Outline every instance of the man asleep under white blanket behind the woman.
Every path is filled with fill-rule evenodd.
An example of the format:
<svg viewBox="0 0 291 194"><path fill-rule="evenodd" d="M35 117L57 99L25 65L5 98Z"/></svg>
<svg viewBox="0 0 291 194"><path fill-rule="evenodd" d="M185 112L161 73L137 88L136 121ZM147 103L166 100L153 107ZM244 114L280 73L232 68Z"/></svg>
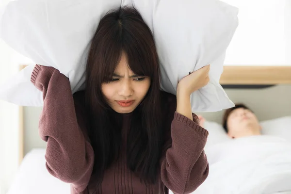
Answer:
<svg viewBox="0 0 291 194"><path fill-rule="evenodd" d="M243 104L226 110L223 127L230 138L205 148L209 176L192 194L291 194L289 141L261 135L256 115Z"/></svg>

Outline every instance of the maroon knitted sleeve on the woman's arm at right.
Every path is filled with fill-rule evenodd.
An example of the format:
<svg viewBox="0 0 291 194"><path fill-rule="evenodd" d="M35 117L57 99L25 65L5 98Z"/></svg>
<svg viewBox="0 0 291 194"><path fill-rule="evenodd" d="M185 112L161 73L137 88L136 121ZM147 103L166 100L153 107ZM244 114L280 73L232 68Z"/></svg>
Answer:
<svg viewBox="0 0 291 194"><path fill-rule="evenodd" d="M165 154L161 159L161 179L174 194L190 194L208 177L209 164L204 153L208 131L176 112L176 97L170 97L167 111Z"/></svg>

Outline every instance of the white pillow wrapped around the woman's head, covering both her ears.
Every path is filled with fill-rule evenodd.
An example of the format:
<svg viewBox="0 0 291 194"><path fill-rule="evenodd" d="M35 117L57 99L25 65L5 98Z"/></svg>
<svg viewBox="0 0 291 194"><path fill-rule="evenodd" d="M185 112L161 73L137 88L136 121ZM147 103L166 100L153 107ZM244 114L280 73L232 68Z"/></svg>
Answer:
<svg viewBox="0 0 291 194"><path fill-rule="evenodd" d="M99 19L110 9L134 4L154 34L161 60L162 90L176 94L181 78L211 64L210 83L192 94L192 111L220 111L234 106L219 79L226 48L238 25L237 8L218 0L122 2L12 1L0 21L0 37L35 64L59 69L69 78L74 93L84 88L86 56ZM23 95L11 101L20 104L17 99ZM38 102L41 99L30 105L42 106Z"/></svg>

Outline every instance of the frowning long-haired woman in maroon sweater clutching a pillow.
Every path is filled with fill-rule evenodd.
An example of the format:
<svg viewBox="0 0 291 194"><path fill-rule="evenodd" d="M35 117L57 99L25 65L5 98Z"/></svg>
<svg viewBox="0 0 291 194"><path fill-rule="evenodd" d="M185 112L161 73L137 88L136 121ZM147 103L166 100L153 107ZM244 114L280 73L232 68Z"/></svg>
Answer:
<svg viewBox="0 0 291 194"><path fill-rule="evenodd" d="M92 39L86 90L36 65L43 92L39 133L46 167L72 194L193 192L208 176L208 131L192 113L190 94L206 85L209 65L178 83L177 98L160 91L153 35L133 8L104 16Z"/></svg>

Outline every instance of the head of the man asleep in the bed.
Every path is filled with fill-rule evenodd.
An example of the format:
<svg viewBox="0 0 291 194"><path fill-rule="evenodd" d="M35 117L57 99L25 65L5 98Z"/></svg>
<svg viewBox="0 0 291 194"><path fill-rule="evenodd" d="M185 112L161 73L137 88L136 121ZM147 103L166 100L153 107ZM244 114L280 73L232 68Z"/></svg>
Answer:
<svg viewBox="0 0 291 194"><path fill-rule="evenodd" d="M261 130L258 118L244 104L236 104L226 110L223 127L231 138L259 135Z"/></svg>

